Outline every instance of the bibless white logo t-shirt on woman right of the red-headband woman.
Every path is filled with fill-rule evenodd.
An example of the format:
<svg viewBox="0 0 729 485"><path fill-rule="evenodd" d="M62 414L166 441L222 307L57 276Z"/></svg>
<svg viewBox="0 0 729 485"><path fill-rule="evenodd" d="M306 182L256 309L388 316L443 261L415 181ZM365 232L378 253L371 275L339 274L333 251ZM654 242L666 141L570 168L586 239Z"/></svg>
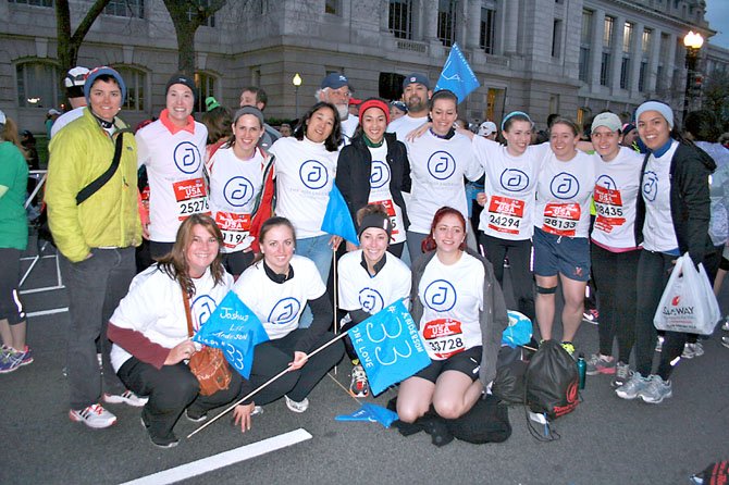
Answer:
<svg viewBox="0 0 729 485"><path fill-rule="evenodd" d="M428 130L406 146L412 178L408 231L428 234L435 211L444 206L457 209L468 219L464 176L478 181L483 174L471 140L459 133L450 139L438 138Z"/></svg>

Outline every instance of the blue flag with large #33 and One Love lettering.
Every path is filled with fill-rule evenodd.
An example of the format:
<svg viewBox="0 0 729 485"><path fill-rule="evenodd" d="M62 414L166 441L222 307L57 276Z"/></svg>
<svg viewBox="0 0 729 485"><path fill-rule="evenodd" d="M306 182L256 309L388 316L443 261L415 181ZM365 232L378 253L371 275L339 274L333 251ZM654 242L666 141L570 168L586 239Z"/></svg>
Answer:
<svg viewBox="0 0 729 485"><path fill-rule="evenodd" d="M374 395L430 365L418 325L403 301L347 332Z"/></svg>

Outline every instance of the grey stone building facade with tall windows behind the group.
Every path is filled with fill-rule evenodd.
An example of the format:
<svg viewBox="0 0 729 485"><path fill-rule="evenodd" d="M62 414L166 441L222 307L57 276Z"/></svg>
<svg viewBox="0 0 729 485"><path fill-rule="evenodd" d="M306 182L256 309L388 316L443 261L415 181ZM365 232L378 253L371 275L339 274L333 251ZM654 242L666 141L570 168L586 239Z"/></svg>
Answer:
<svg viewBox="0 0 729 485"><path fill-rule="evenodd" d="M90 3L71 1L74 25ZM196 77L203 95L228 107L242 87L261 86L267 116L293 119L297 97L301 110L310 105L334 71L358 98L393 99L413 71L435 84L458 42L481 83L460 107L471 121L498 122L516 109L542 125L552 112L580 121L606 108L630 112L647 98L680 112L683 36L714 34L704 10L703 0L228 0L197 33ZM0 26L0 107L39 130L47 110L62 102L52 0L5 0L0 17L8 20ZM176 63L161 0L112 0L78 59L122 72L131 123L159 113Z"/></svg>

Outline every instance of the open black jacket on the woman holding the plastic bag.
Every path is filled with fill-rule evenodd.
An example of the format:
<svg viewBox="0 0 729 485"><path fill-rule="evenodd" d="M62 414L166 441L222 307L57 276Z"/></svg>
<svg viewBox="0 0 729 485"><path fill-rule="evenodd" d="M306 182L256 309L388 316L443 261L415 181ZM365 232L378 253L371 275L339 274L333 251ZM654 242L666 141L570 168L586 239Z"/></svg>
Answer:
<svg viewBox="0 0 729 485"><path fill-rule="evenodd" d="M638 192L635 213L635 240L643 241L645 201L643 200L643 176L651 153L643 159L641 190ZM670 162L670 212L678 240L678 249L683 254L689 251L694 264L699 264L707 251L713 249L708 235L711 203L708 198L708 176L716 169L714 160L701 148L680 142Z"/></svg>

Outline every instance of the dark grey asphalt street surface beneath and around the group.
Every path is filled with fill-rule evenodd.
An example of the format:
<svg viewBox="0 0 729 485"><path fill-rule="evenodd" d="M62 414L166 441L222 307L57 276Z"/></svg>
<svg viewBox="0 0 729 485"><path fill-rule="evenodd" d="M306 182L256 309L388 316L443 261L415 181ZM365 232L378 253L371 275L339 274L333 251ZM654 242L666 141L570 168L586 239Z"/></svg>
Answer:
<svg viewBox="0 0 729 485"><path fill-rule="evenodd" d="M28 254L35 248L32 241ZM22 289L53 286L55 277L54 259L41 259ZM63 289L25 294L24 301L32 313L67 304ZM726 313L726 287L720 304ZM404 437L376 423L335 421L359 408L336 382L348 385L350 365L343 363L313 390L302 414L277 401L254 418L250 432L242 434L224 416L190 439L185 436L197 425L183 416L175 428L180 446L160 450L143 431L138 409L110 405L119 422L108 430L69 420L67 325L67 312L30 316L35 362L0 375L0 483L124 483L298 428L312 437L183 483L688 484L708 463L729 459L729 349L718 328L704 340L703 357L679 363L674 397L662 405L625 401L610 377L588 377L577 410L554 422L561 438L553 443L529 434L522 406L509 408L511 437L490 445L456 440L436 448L424 433ZM583 323L576 345L594 352L597 326ZM385 406L393 396L388 390L363 401Z"/></svg>

